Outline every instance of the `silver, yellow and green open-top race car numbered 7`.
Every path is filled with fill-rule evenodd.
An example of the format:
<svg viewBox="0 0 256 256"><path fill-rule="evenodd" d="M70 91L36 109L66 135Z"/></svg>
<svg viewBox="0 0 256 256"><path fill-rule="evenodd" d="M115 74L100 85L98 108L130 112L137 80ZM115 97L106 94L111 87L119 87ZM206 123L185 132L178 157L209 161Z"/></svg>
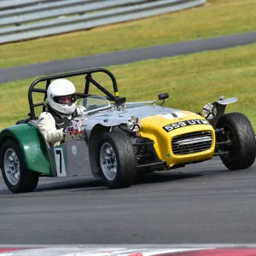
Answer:
<svg viewBox="0 0 256 256"><path fill-rule="evenodd" d="M105 73L113 93L93 79ZM54 79L82 76L84 92L78 93L83 113L72 120L65 141L52 147L38 129L35 108L43 107ZM45 83L45 89L37 84ZM91 86L101 95L90 94ZM35 103L34 92L44 101ZM13 193L31 192L39 177L101 177L109 189L131 186L142 173L170 171L219 156L230 170L253 165L256 140L243 113L224 113L235 97L207 103L201 113L164 107L168 93L158 101L127 102L119 97L116 79L104 68L47 76L28 90L30 113L0 132L0 165L6 186Z"/></svg>

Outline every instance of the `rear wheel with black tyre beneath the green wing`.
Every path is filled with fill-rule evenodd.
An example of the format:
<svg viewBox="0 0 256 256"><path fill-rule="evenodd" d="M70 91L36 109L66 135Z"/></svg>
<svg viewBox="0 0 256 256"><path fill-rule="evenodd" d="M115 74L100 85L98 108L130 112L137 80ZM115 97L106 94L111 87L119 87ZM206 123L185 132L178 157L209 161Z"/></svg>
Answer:
<svg viewBox="0 0 256 256"><path fill-rule="evenodd" d="M3 143L0 153L3 180L16 193L32 192L38 186L38 173L27 171L19 146L13 140Z"/></svg>

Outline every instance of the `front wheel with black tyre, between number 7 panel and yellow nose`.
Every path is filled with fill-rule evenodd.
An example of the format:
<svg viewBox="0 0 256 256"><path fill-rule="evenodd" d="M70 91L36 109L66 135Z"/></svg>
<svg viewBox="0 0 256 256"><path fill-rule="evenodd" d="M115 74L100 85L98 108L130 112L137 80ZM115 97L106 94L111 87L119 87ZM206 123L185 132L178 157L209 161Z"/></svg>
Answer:
<svg viewBox="0 0 256 256"><path fill-rule="evenodd" d="M99 145L98 168L109 189L131 186L136 176L136 155L131 140L121 131L103 133Z"/></svg>

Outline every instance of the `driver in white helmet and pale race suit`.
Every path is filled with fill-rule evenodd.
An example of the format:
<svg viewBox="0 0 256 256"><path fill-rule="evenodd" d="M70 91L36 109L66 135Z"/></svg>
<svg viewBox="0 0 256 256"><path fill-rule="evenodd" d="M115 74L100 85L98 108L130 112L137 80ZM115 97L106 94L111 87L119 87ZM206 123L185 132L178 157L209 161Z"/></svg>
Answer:
<svg viewBox="0 0 256 256"><path fill-rule="evenodd" d="M45 106L46 111L38 117L38 127L45 140L55 147L64 140L71 119L79 116L84 107L77 108L76 89L67 79L55 79L49 84Z"/></svg>

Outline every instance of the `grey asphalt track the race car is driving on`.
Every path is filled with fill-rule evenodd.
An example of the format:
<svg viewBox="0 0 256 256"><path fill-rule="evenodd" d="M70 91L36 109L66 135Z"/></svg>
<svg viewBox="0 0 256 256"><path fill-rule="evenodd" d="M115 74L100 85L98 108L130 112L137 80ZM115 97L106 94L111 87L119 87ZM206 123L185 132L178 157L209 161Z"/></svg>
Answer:
<svg viewBox="0 0 256 256"><path fill-rule="evenodd" d="M255 243L256 163L219 158L156 172L128 189L100 179L42 178L12 195L0 181L1 244Z"/></svg>

